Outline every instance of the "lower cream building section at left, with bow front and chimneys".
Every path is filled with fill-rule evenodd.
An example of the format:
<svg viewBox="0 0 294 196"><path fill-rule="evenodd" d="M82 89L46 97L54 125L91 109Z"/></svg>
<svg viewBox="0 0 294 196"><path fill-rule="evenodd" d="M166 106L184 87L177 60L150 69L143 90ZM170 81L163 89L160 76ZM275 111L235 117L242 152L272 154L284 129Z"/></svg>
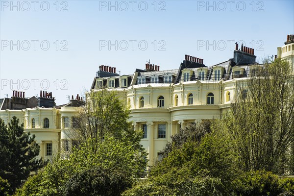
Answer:
<svg viewBox="0 0 294 196"><path fill-rule="evenodd" d="M74 145L70 124L82 104L78 96L56 106L52 92L40 91L38 98L25 98L25 92L13 91L11 98L0 99L0 118L7 124L16 116L20 124L24 123L25 132L35 134L35 142L40 145L38 158L48 159L60 149L69 152Z"/></svg>

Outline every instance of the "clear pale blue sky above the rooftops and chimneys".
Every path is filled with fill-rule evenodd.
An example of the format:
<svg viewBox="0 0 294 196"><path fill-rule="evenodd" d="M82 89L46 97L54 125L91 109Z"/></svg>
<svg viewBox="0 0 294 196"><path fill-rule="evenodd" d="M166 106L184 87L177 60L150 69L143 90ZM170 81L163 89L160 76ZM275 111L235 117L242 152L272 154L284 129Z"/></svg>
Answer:
<svg viewBox="0 0 294 196"><path fill-rule="evenodd" d="M212 66L236 42L262 62L288 34L294 0L0 0L0 98L44 90L60 105L90 90L100 65L170 70L188 54Z"/></svg>

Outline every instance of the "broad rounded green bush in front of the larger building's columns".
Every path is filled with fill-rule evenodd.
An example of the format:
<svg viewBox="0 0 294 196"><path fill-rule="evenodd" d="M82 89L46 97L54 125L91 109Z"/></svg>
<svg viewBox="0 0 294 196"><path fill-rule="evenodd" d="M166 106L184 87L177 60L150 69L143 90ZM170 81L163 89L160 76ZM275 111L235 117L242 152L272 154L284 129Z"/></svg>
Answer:
<svg viewBox="0 0 294 196"><path fill-rule="evenodd" d="M172 147L168 155L151 168L147 180L139 182L124 195L229 195L239 164L229 138L214 131L216 127L213 125L211 133L202 132L201 136L188 127L186 130L193 139L187 137L186 142ZM179 134L183 135L183 132ZM175 135L174 138L180 137Z"/></svg>

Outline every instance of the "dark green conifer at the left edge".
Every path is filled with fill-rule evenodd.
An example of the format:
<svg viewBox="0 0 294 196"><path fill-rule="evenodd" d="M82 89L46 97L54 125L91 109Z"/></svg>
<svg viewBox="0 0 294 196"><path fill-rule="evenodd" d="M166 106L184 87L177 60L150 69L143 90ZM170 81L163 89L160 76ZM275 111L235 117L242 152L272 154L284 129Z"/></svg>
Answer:
<svg viewBox="0 0 294 196"><path fill-rule="evenodd" d="M35 136L24 133L24 124L14 116L8 127L0 119L0 177L6 179L14 191L29 176L42 166L35 157L40 147L34 142Z"/></svg>

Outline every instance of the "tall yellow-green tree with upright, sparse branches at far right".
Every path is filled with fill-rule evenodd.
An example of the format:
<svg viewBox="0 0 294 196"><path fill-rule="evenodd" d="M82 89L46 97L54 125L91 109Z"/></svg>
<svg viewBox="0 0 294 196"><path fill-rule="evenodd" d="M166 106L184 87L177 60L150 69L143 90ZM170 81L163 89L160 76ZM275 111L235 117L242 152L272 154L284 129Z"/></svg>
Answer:
<svg viewBox="0 0 294 196"><path fill-rule="evenodd" d="M251 69L246 84L236 84L234 103L222 129L234 142L247 171L289 170L294 142L294 77L288 62L275 59ZM246 92L244 91L246 90Z"/></svg>

